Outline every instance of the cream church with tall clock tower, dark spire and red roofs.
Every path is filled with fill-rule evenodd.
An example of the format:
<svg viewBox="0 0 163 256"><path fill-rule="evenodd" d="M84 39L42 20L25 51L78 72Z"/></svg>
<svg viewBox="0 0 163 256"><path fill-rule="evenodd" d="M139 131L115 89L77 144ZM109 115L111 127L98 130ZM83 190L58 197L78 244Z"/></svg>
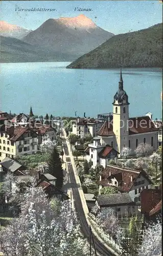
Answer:
<svg viewBox="0 0 163 256"><path fill-rule="evenodd" d="M130 103L123 86L122 68L119 88L112 104L113 119L105 121L97 134L100 144L110 145L119 153L123 147L129 147L133 155L139 143L150 144L151 151L157 150L158 129L150 117L129 117Z"/></svg>

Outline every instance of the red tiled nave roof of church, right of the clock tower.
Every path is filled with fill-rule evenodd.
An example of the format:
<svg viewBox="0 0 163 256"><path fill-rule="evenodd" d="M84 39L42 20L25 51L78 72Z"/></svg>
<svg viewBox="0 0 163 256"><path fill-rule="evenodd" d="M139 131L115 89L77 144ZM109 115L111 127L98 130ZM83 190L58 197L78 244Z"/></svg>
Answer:
<svg viewBox="0 0 163 256"><path fill-rule="evenodd" d="M149 116L129 118L128 126L129 135L158 131Z"/></svg>

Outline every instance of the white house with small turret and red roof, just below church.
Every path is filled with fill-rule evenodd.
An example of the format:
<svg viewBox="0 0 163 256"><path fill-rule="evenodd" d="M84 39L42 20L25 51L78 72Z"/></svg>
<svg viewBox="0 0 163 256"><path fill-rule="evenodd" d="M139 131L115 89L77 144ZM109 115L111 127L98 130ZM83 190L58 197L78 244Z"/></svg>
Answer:
<svg viewBox="0 0 163 256"><path fill-rule="evenodd" d="M86 160L91 160L92 167L95 168L97 164L104 166L108 165L109 160L117 161L119 152L114 150L110 145L102 144L99 137L94 137L93 143L88 144L85 150Z"/></svg>

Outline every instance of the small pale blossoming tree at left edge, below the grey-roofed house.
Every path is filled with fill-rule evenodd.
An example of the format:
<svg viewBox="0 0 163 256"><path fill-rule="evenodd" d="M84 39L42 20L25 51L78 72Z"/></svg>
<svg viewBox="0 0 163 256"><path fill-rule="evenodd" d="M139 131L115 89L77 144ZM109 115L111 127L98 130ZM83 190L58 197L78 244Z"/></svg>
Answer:
<svg viewBox="0 0 163 256"><path fill-rule="evenodd" d="M2 190L6 196L7 202L9 202L11 196L13 195L13 184L16 184L16 177L8 172L4 177L4 182L2 185Z"/></svg>

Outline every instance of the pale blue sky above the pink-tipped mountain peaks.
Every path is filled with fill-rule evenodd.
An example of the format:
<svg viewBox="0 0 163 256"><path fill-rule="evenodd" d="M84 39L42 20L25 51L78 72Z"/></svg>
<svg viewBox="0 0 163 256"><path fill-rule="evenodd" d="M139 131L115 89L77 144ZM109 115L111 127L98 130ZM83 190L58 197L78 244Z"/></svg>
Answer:
<svg viewBox="0 0 163 256"><path fill-rule="evenodd" d="M17 11L16 8L55 8L53 12ZM91 8L89 12L75 8ZM35 30L45 20L75 17L91 18L99 27L114 34L127 33L162 23L162 4L145 1L1 1L1 20Z"/></svg>

